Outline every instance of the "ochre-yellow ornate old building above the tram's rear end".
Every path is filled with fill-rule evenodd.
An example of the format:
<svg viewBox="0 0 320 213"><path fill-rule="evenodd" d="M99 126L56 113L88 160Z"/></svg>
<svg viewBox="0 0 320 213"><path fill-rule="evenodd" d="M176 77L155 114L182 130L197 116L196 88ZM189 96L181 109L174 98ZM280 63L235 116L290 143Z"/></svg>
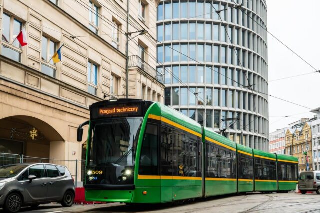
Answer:
<svg viewBox="0 0 320 213"><path fill-rule="evenodd" d="M313 170L311 127L304 121L287 129L285 133L285 150L287 155L298 158L299 172Z"/></svg>

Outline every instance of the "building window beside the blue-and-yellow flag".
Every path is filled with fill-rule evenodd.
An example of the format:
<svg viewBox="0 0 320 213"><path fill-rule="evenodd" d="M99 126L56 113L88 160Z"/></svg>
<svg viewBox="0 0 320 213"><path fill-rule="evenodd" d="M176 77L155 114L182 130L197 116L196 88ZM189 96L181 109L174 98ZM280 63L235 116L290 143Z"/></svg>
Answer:
<svg viewBox="0 0 320 213"><path fill-rule="evenodd" d="M49 37L42 36L42 64L41 72L51 77L55 77L56 66L52 60L52 56L56 52L57 44Z"/></svg>

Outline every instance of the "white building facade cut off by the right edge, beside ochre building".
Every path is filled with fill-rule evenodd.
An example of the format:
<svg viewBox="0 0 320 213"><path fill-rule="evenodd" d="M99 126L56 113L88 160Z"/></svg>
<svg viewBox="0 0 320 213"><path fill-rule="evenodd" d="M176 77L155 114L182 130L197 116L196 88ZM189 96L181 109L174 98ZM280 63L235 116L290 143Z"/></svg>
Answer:
<svg viewBox="0 0 320 213"><path fill-rule="evenodd" d="M316 113L316 119L311 122L313 168L320 170L320 107L310 112Z"/></svg>

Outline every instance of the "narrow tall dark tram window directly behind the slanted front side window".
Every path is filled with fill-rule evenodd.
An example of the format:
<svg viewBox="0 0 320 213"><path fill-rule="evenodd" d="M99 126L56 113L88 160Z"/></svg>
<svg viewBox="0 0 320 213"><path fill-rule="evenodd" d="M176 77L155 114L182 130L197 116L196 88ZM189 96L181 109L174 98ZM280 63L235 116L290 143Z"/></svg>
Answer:
<svg viewBox="0 0 320 213"><path fill-rule="evenodd" d="M161 126L161 175L172 175L172 129Z"/></svg>

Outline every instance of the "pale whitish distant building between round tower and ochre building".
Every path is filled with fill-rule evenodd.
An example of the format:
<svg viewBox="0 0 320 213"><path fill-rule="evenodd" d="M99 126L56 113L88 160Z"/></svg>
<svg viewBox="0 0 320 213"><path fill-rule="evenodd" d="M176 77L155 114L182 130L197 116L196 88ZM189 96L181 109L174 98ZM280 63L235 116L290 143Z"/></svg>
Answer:
<svg viewBox="0 0 320 213"><path fill-rule="evenodd" d="M269 152L277 154L285 153L285 133L288 128L278 129L269 135Z"/></svg>

